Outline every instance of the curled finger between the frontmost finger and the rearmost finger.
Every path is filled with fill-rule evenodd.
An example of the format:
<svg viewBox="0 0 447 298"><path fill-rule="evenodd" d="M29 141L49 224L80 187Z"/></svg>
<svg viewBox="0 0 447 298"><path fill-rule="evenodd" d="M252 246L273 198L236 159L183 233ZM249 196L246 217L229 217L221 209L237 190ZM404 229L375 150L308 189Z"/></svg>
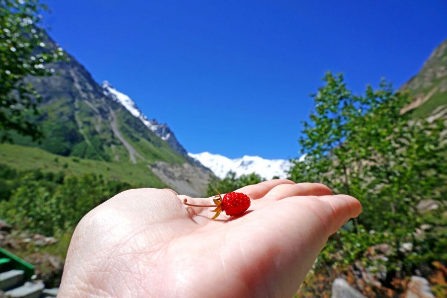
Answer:
<svg viewBox="0 0 447 298"><path fill-rule="evenodd" d="M272 188L262 199L278 201L294 196L332 195L329 187L321 183L280 184Z"/></svg>

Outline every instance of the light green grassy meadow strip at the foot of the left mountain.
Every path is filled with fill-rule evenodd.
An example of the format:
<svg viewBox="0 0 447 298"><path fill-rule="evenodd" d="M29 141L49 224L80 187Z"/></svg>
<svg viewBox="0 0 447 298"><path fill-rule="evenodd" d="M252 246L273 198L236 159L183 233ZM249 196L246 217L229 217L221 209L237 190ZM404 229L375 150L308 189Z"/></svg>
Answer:
<svg viewBox="0 0 447 298"><path fill-rule="evenodd" d="M10 144L0 145L0 160L18 170L42 169L54 173L64 172L68 176L92 173L141 187L168 187L143 162L133 164L127 161L107 162L66 157L39 148Z"/></svg>

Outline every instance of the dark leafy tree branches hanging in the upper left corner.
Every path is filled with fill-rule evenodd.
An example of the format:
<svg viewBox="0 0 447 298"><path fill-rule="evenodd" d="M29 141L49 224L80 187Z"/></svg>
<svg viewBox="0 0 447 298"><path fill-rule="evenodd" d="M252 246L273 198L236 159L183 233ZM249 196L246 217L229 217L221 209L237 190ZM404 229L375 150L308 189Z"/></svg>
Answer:
<svg viewBox="0 0 447 298"><path fill-rule="evenodd" d="M64 57L61 48L48 49L40 27L38 0L0 0L0 141L11 141L12 130L37 140L42 132L27 114L38 115L40 95L26 82L27 75L46 76L45 64Z"/></svg>

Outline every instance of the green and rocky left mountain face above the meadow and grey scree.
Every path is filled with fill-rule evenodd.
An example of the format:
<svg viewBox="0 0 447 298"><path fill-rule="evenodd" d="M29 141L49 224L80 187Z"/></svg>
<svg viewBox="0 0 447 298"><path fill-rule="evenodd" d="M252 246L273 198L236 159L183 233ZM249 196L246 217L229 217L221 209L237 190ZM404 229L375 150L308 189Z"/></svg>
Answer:
<svg viewBox="0 0 447 298"><path fill-rule="evenodd" d="M47 44L52 46L51 41ZM74 57L69 58L68 62L49 66L56 75L29 79L43 98L36 122L42 126L45 138L39 144L16 137L16 144L106 161L136 162L137 155L150 162L186 162L121 104L105 96L88 71ZM140 147L138 154L132 152L135 146Z"/></svg>

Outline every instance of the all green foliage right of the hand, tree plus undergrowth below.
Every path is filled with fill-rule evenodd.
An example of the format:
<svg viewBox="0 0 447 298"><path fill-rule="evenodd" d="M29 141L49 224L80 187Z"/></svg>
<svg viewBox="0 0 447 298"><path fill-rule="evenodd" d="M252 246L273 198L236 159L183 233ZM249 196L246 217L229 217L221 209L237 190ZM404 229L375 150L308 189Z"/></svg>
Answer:
<svg viewBox="0 0 447 298"><path fill-rule="evenodd" d="M434 261L447 262L445 127L441 120L413 120L410 113L401 114L410 98L385 81L376 90L368 86L360 96L347 88L341 74L327 73L324 81L313 95L311 122L303 123L299 143L305 158L294 161L290 177L354 196L363 213L330 237L300 293L316 295L321 289L310 281L324 284L322 276L335 269L338 275L349 275L357 264L384 266L387 276L381 282L387 288L376 289L381 292L375 295L392 297L399 281L417 270L435 270ZM439 207L422 214L418 204L428 199ZM392 252L382 261L368 255L369 248L383 243ZM374 296L365 290L368 287L364 294Z"/></svg>

